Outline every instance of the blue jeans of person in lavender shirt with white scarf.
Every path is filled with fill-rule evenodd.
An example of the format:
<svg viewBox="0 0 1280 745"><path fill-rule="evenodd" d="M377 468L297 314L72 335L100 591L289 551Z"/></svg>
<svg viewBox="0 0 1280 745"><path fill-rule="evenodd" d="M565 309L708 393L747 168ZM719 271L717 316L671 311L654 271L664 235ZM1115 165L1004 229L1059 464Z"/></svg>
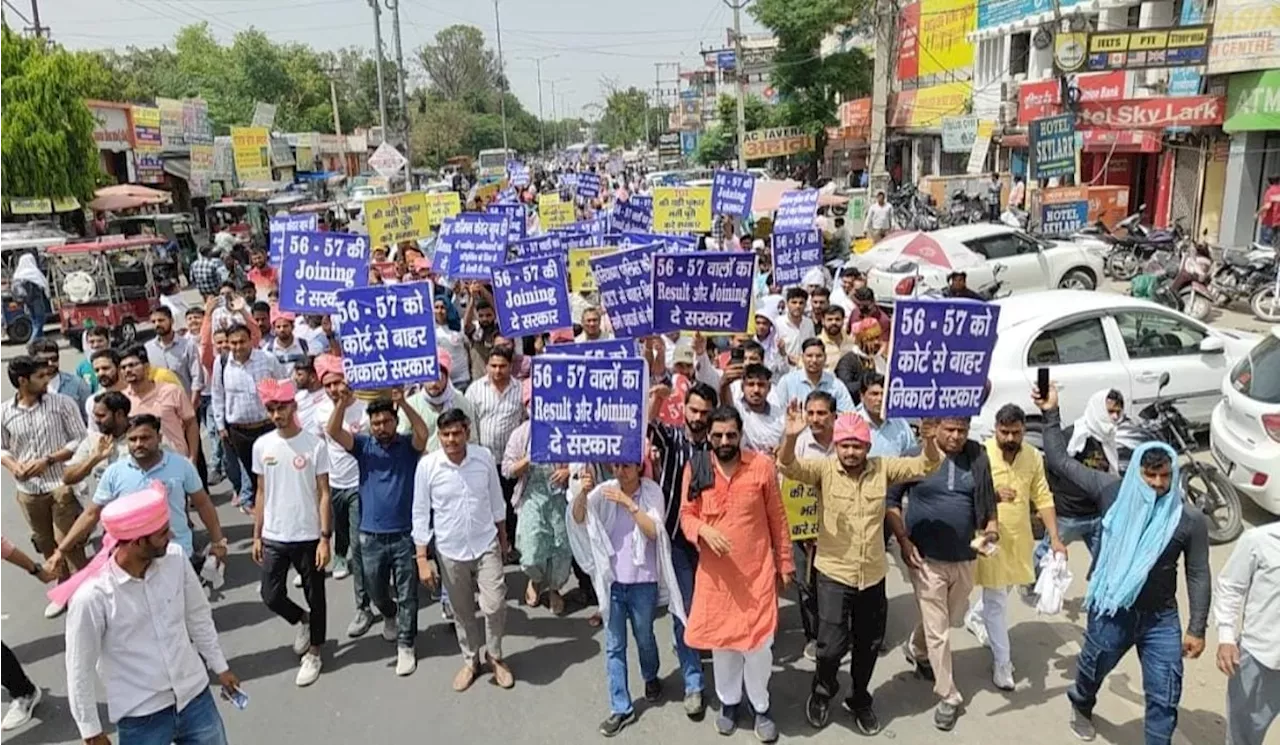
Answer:
<svg viewBox="0 0 1280 745"><path fill-rule="evenodd" d="M604 629L604 669L609 675L609 710L631 713L631 691L627 689L627 618L636 637L640 676L649 682L658 680L658 639L653 635L653 614L658 609L658 582L609 588L609 625Z"/></svg>

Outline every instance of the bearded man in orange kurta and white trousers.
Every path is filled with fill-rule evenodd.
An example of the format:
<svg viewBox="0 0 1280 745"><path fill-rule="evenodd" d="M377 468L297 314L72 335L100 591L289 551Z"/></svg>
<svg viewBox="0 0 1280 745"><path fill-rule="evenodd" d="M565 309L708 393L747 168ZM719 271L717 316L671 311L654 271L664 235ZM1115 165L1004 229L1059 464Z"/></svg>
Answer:
<svg viewBox="0 0 1280 745"><path fill-rule="evenodd" d="M795 577L791 536L773 460L742 452L742 417L736 408L712 412L710 474L685 467L680 527L698 547L694 602L685 643L712 650L721 714L716 728L737 728L742 689L755 710L755 735L773 742L769 716L773 635L778 627L778 588Z"/></svg>

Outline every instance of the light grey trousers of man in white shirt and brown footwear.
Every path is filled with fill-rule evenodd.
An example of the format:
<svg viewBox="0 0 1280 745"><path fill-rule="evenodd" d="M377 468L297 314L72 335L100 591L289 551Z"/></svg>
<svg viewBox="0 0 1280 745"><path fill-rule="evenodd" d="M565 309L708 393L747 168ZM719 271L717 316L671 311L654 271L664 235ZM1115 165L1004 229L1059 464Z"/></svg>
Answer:
<svg viewBox="0 0 1280 745"><path fill-rule="evenodd" d="M480 658L483 648L488 649L489 657L502 659L502 636L507 627L507 580L503 576L498 539L493 539L493 545L480 558L457 561L439 556L439 559L440 579L449 594L449 604L453 605L453 625L463 659L484 662ZM476 618L477 593L484 629Z"/></svg>

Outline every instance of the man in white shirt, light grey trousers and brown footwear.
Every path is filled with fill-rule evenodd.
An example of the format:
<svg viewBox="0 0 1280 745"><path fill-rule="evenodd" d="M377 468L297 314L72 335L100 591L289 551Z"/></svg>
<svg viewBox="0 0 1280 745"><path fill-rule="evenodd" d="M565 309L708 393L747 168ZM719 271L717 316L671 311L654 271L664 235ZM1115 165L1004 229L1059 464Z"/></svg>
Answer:
<svg viewBox="0 0 1280 745"><path fill-rule="evenodd" d="M453 690L465 691L479 673L481 645L488 646L493 680L515 685L502 655L507 621L507 504L498 481L498 466L481 445L471 444L467 415L451 410L435 422L440 449L417 463L413 476L413 543L417 573L424 585L435 585L428 548L435 545L444 589L453 603L462 669ZM476 618L476 594L484 613L485 634Z"/></svg>

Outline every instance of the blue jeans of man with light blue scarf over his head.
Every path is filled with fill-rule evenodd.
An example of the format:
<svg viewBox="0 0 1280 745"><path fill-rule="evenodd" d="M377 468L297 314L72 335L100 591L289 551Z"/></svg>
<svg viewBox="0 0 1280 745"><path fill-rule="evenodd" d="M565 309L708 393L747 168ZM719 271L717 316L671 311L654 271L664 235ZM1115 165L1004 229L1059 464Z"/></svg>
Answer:
<svg viewBox="0 0 1280 745"><path fill-rule="evenodd" d="M1142 662L1146 744L1169 745L1178 726L1178 703L1183 698L1183 630L1176 608L1120 611L1115 616L1089 613L1075 684L1066 690L1066 698L1076 710L1092 717L1102 680L1130 646L1138 648Z"/></svg>

